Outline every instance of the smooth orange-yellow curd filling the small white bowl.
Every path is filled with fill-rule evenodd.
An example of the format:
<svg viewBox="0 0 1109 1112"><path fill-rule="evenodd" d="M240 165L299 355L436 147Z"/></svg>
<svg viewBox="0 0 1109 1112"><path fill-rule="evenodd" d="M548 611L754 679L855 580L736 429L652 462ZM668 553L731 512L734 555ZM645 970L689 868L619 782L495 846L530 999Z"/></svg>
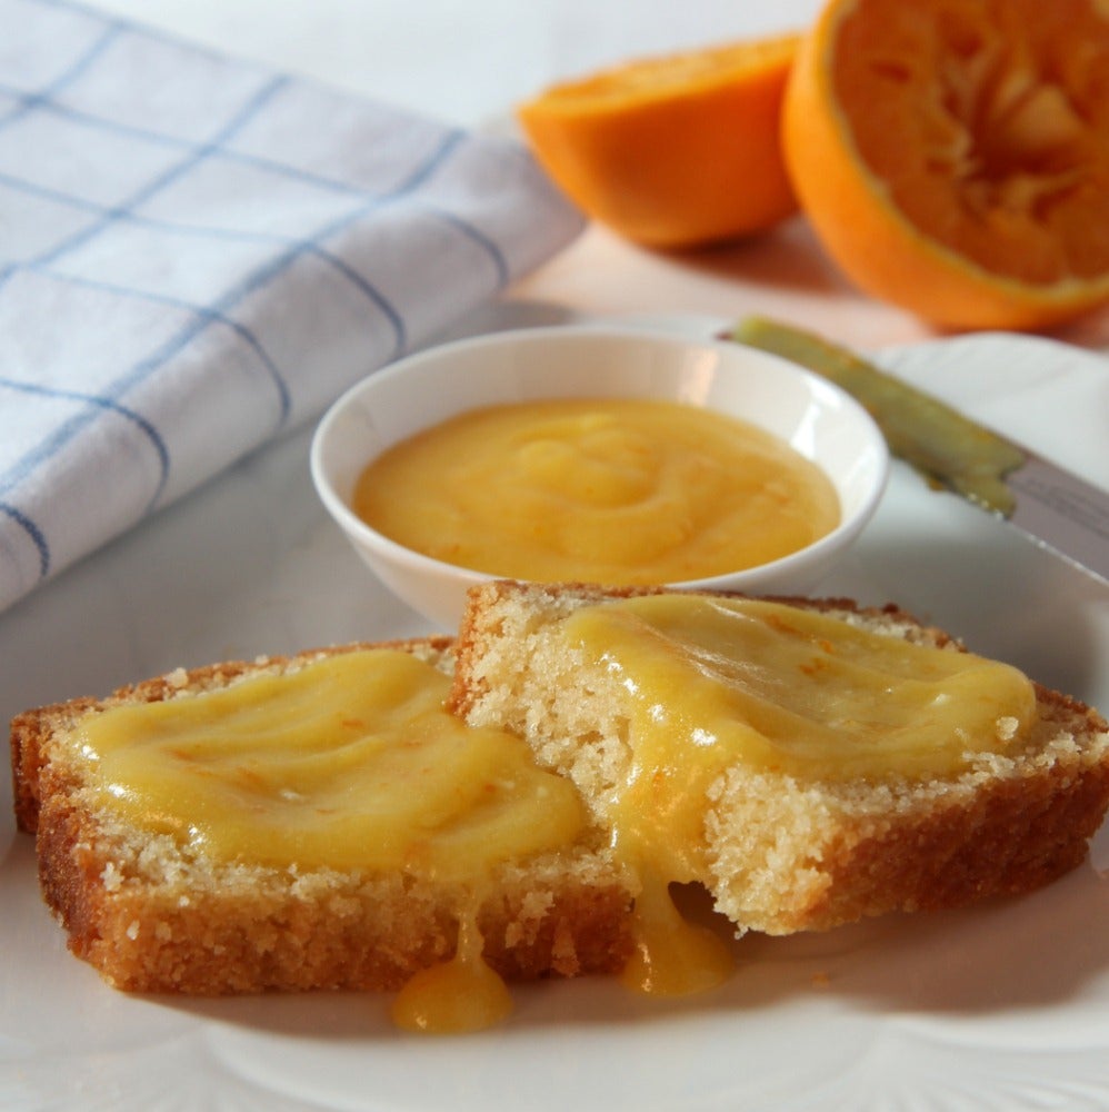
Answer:
<svg viewBox="0 0 1109 1112"><path fill-rule="evenodd" d="M780 437L643 398L461 414L373 459L353 508L392 540L449 564L612 585L756 567L840 520L831 480Z"/></svg>

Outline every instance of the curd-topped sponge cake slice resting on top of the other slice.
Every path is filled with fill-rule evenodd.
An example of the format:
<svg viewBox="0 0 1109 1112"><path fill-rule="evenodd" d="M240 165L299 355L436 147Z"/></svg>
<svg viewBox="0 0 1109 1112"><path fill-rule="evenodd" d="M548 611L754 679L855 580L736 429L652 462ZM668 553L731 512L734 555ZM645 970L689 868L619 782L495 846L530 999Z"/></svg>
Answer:
<svg viewBox="0 0 1109 1112"><path fill-rule="evenodd" d="M1109 804L1095 711L845 600L484 585L451 702L523 736L632 868L703 884L740 932L1032 890Z"/></svg>

